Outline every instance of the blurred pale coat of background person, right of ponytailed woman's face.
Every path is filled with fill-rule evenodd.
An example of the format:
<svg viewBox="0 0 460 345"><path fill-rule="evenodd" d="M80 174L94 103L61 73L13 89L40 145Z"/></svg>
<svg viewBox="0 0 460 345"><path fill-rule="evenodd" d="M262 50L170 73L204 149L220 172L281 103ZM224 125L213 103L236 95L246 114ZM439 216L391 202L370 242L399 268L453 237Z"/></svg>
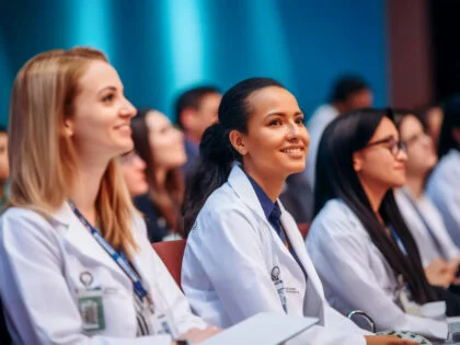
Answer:
<svg viewBox="0 0 460 345"><path fill-rule="evenodd" d="M332 120L337 117L338 111L331 104L323 104L318 107L310 120L307 124L307 129L310 135L310 146L308 149L307 166L303 175L309 183L311 189L314 189L314 179L317 171L317 156L320 148L321 137L324 129Z"/></svg>

